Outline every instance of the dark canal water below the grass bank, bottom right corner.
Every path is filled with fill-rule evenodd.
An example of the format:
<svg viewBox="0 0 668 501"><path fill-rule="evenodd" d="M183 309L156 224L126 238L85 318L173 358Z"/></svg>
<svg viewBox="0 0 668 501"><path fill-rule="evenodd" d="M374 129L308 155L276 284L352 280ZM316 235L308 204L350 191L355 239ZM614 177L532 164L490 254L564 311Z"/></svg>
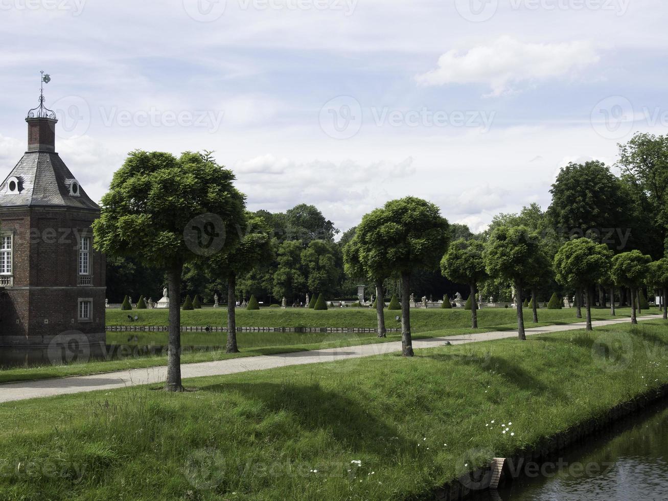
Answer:
<svg viewBox="0 0 668 501"><path fill-rule="evenodd" d="M490 500L668 500L668 402L490 492ZM532 469L533 468L533 469ZM535 471L539 468L538 472ZM486 498L485 496L484 498Z"/></svg>

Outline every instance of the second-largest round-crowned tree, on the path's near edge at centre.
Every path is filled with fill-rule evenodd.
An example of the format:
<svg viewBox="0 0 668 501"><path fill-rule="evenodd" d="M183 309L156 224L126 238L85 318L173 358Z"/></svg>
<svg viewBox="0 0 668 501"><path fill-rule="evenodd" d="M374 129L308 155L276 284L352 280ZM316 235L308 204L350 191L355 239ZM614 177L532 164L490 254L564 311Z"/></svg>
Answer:
<svg viewBox="0 0 668 501"><path fill-rule="evenodd" d="M401 276L401 354L413 356L411 337L411 275L436 270L450 240L450 224L435 204L407 196L370 212L375 228L369 246L386 267Z"/></svg>

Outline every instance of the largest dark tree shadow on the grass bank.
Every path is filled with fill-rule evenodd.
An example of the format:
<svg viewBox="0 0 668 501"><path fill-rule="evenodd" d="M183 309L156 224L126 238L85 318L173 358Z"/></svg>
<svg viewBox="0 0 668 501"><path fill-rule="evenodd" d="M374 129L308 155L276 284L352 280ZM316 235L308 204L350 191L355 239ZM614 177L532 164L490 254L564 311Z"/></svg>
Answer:
<svg viewBox="0 0 668 501"><path fill-rule="evenodd" d="M200 388L213 393L239 393L262 401L269 413L287 411L299 426L312 432L326 430L345 447L387 455L414 450L417 444L403 438L397 428L375 418L363 402L317 384L224 383ZM295 428L295 434L299 429Z"/></svg>

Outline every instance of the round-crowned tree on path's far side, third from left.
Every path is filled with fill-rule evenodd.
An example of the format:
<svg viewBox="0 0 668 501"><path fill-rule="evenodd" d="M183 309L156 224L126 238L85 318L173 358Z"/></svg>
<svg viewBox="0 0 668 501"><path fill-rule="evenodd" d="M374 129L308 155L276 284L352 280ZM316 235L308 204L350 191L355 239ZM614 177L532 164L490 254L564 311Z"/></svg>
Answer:
<svg viewBox="0 0 668 501"><path fill-rule="evenodd" d="M454 283L466 284L470 296L466 301L466 309L471 310L471 326L478 328L478 305L476 304L476 287L487 278L482 253L485 246L478 240L455 240L448 247L448 252L441 260L441 273ZM448 303L449 304L449 303Z"/></svg>

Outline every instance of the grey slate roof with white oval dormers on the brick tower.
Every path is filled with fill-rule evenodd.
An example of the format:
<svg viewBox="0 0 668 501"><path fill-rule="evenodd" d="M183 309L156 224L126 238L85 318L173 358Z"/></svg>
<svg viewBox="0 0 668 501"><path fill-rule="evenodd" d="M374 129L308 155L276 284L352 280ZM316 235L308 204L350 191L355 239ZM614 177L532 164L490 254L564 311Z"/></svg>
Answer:
<svg viewBox="0 0 668 501"><path fill-rule="evenodd" d="M7 193L7 180L12 176L21 181L19 194ZM0 208L64 206L100 210L80 184L79 196L69 194L69 181L73 179L75 177L57 153L26 152L0 184Z"/></svg>

